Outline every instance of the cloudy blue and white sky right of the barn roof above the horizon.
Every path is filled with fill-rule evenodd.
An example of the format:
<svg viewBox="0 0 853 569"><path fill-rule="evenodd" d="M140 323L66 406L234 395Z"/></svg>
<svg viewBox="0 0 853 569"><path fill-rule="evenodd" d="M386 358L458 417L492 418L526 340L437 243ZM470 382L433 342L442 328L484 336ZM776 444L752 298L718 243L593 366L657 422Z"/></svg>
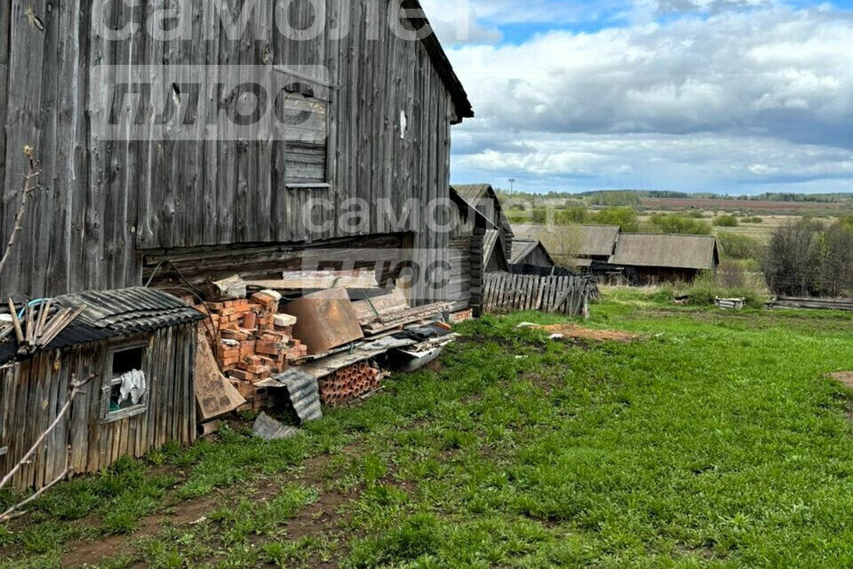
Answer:
<svg viewBox="0 0 853 569"><path fill-rule="evenodd" d="M853 192L853 0L424 0L477 117L452 179Z"/></svg>

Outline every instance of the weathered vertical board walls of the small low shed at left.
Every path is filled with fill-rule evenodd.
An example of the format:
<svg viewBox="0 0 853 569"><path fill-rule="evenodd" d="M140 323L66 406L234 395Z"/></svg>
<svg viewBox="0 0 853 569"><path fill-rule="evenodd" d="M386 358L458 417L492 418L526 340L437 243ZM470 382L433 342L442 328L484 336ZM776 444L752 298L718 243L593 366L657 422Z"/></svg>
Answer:
<svg viewBox="0 0 853 569"><path fill-rule="evenodd" d="M147 412L113 423L100 420L101 388L109 379L103 374L107 343L41 353L0 369L0 446L8 447L0 456L0 472L11 470L53 422L68 401L70 383L91 375L96 376L76 396L35 460L14 478L15 487L44 486L65 470L67 460L76 473L92 472L171 440L195 440L195 326L158 330L149 345L143 361L150 389Z"/></svg>

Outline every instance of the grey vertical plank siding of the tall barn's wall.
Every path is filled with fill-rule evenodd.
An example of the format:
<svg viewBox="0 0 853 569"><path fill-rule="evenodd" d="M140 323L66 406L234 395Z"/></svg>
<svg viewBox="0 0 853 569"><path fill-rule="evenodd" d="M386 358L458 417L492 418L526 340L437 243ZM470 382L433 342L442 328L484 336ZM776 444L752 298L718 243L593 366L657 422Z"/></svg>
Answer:
<svg viewBox="0 0 853 569"><path fill-rule="evenodd" d="M243 0L225 0L236 17ZM234 243L321 241L351 234L338 223L347 198L370 204L370 224L355 233L387 233L392 204L403 217L407 200L446 198L449 185L450 92L421 42L397 38L387 3L328 0L326 29L349 22L342 39L326 34L293 42L279 35L273 4L257 3L247 36L230 39L212 18L213 0L192 0L193 40L155 41L146 34L108 42L92 33L92 0L7 0L0 3L0 241L12 232L26 171L23 146L36 148L45 189L31 204L26 227L0 281L0 295L53 296L83 289L121 288L141 281L140 249ZM121 28L155 3L108 2L106 21ZM174 3L178 6L177 2ZM377 10L370 8L378 6ZM32 25L27 12L43 22ZM310 3L291 3L294 27L312 21ZM369 26L371 28L369 28ZM215 30L203 39L205 28ZM371 39L370 29L378 30ZM331 189L286 189L288 145L282 141L99 141L92 122L108 112L97 65L135 64L325 65L331 70L329 146ZM6 82L8 77L8 82ZM408 131L400 136L400 113ZM316 150L316 149L314 149ZM309 162L320 159L316 154ZM309 234L300 216L308 198L330 198ZM398 231L414 234L418 259L434 263L447 235L410 216Z"/></svg>

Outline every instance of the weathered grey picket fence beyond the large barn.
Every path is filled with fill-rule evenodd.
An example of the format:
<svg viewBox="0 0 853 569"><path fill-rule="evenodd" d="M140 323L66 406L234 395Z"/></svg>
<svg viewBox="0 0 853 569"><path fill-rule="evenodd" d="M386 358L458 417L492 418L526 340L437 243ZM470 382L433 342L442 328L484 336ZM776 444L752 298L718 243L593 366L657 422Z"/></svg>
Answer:
<svg viewBox="0 0 853 569"><path fill-rule="evenodd" d="M588 315L589 301L601 295L595 279L586 275L488 273L483 281L483 312L541 310L569 316Z"/></svg>

